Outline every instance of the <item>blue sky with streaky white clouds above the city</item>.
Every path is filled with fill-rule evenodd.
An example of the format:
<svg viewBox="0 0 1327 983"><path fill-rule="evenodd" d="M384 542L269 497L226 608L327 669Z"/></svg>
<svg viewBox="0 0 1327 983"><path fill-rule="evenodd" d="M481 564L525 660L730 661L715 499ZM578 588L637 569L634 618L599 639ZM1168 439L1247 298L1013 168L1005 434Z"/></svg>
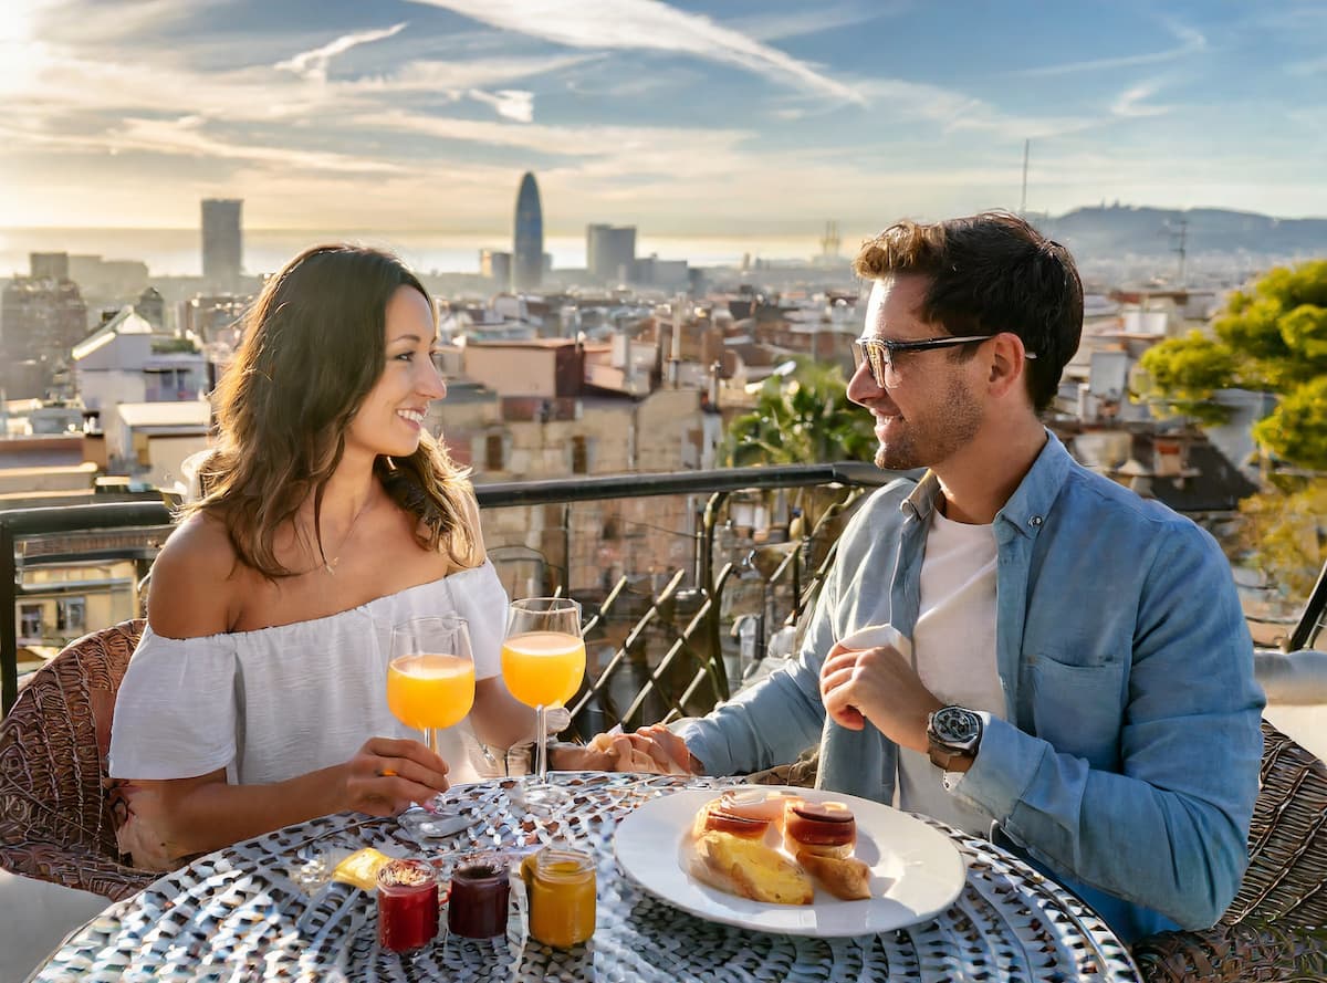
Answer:
<svg viewBox="0 0 1327 983"><path fill-rule="evenodd" d="M1327 216L1320 0L5 0L0 227Z"/></svg>

